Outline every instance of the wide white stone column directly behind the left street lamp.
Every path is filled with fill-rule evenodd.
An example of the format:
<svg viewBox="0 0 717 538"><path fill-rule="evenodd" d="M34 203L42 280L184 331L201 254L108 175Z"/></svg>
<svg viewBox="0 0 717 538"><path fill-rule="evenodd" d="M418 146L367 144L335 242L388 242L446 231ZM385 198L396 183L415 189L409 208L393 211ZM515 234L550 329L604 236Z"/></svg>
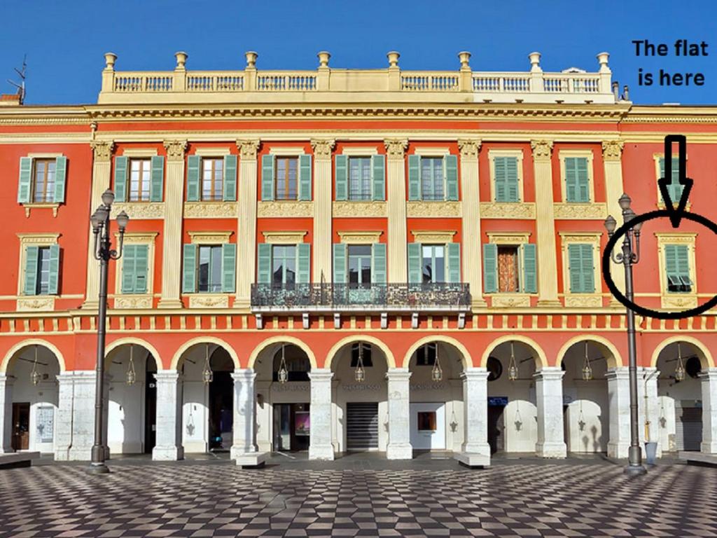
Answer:
<svg viewBox="0 0 717 538"><path fill-rule="evenodd" d="M54 459L89 461L95 443L95 371L59 374L57 382Z"/></svg>

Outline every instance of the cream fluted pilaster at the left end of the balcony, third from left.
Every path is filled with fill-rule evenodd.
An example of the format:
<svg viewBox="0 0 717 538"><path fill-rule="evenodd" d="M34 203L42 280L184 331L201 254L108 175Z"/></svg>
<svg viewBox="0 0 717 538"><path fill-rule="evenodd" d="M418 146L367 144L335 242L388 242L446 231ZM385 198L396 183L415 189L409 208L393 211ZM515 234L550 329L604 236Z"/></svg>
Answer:
<svg viewBox="0 0 717 538"><path fill-rule="evenodd" d="M239 148L239 215L237 233L237 296L235 308L250 308L257 258L257 151L260 141L237 140Z"/></svg>

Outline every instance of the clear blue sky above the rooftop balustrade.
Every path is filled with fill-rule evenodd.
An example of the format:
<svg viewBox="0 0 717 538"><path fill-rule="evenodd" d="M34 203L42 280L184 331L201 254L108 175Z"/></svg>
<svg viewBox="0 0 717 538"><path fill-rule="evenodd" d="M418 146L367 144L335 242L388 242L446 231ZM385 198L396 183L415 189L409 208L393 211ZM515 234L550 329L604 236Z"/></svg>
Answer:
<svg viewBox="0 0 717 538"><path fill-rule="evenodd" d="M661 4L665 4L662 6ZM597 70L610 53L613 80L636 103L717 103L714 1L36 1L0 0L0 88L27 53L27 103L95 103L104 52L118 70L171 70L174 52L191 70L235 70L244 52L259 69L313 69L316 53L333 67L454 70L473 53L473 70L527 71L541 52L546 71ZM657 6L660 6L657 9ZM675 39L708 43L707 57L678 58ZM668 57L635 57L633 39L669 44ZM637 70L702 72L702 87L637 85Z"/></svg>

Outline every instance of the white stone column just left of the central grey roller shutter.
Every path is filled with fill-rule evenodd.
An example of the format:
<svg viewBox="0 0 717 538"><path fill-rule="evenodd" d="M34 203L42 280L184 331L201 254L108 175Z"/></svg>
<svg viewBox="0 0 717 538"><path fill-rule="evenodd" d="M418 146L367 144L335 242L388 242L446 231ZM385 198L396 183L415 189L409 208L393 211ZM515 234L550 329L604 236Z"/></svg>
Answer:
<svg viewBox="0 0 717 538"><path fill-rule="evenodd" d="M314 368L311 379L311 406L309 407L310 460L333 460L331 444L331 378L328 368Z"/></svg>

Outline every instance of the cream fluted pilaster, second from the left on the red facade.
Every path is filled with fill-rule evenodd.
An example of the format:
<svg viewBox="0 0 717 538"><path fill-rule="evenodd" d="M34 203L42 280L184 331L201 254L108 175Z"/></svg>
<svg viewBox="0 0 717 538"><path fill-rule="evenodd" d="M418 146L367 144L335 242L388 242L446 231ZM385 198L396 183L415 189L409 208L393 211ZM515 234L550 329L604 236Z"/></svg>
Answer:
<svg viewBox="0 0 717 538"><path fill-rule="evenodd" d="M181 221L184 208L184 152L186 140L165 141L164 234L162 241L162 296L159 308L181 308Z"/></svg>

